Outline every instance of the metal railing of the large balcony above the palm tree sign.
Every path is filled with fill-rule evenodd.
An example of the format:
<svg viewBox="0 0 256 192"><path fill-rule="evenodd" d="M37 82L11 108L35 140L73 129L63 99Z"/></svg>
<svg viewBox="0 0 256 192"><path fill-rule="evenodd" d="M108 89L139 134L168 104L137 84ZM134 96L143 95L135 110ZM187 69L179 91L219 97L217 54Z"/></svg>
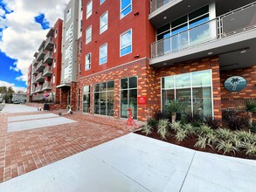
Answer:
<svg viewBox="0 0 256 192"><path fill-rule="evenodd" d="M151 44L151 58L256 29L256 2ZM231 22L231 20L239 22Z"/></svg>

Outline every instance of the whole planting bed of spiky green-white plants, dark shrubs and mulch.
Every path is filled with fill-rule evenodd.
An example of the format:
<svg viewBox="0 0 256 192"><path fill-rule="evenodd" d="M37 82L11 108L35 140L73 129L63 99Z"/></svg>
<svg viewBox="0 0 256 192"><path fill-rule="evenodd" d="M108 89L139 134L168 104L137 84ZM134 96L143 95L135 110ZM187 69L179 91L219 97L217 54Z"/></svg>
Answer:
<svg viewBox="0 0 256 192"><path fill-rule="evenodd" d="M222 120L202 113L184 113L186 104L170 100L142 130L151 138L198 151L256 160L256 101L246 101L245 112L224 110ZM171 123L172 122L172 123Z"/></svg>

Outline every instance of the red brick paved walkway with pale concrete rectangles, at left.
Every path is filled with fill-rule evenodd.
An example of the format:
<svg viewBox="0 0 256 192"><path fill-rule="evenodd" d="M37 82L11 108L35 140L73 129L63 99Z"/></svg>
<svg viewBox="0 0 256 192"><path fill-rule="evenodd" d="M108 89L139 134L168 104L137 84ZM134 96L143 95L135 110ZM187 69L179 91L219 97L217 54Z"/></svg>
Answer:
<svg viewBox="0 0 256 192"><path fill-rule="evenodd" d="M82 113L59 116L31 106L6 106L0 113L0 182L129 133L86 120Z"/></svg>

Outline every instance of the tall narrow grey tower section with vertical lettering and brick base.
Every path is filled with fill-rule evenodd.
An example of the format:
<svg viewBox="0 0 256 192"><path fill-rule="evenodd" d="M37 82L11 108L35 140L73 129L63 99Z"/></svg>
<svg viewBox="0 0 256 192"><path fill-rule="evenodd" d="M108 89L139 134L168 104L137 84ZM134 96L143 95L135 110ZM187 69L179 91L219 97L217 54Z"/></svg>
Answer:
<svg viewBox="0 0 256 192"><path fill-rule="evenodd" d="M81 2L71 0L64 10L61 79L57 86L60 90L60 103L76 110L77 101L77 41L80 35Z"/></svg>

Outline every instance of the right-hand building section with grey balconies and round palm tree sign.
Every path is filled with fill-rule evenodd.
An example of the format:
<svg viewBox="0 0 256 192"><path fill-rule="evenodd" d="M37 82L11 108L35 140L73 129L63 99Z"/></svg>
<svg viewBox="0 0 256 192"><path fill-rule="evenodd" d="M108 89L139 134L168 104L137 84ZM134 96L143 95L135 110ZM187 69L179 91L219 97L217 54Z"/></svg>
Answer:
<svg viewBox="0 0 256 192"><path fill-rule="evenodd" d="M187 112L221 118L256 98L255 1L150 2L156 29L149 65L156 71L161 107L187 102Z"/></svg>

